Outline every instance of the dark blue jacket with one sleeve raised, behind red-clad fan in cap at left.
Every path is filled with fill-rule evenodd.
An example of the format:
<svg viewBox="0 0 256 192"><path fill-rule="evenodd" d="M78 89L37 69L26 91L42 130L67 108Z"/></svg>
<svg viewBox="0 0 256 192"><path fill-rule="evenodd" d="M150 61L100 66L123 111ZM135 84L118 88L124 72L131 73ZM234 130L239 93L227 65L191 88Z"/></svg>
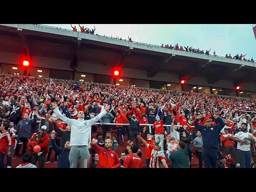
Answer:
<svg viewBox="0 0 256 192"><path fill-rule="evenodd" d="M33 119L22 119L18 122L16 130L18 133L18 138L26 138L30 139L31 137L31 131L33 124L36 123L36 115L34 115ZM35 125L34 125L35 126Z"/></svg>

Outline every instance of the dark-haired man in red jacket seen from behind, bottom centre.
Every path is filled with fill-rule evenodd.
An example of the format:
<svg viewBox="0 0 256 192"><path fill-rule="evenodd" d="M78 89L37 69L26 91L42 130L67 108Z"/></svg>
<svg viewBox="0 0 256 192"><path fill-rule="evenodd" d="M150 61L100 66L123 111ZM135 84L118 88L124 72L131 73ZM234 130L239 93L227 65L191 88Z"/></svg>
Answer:
<svg viewBox="0 0 256 192"><path fill-rule="evenodd" d="M135 145L128 149L129 155L127 155L124 159L123 168L142 168L142 161L137 155L138 150L138 146Z"/></svg>

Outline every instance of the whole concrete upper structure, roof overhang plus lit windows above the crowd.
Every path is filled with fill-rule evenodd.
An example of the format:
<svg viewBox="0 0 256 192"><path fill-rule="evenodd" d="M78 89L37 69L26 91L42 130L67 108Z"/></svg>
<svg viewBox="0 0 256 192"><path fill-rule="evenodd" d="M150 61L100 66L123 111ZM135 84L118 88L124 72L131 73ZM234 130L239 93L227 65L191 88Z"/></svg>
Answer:
<svg viewBox="0 0 256 192"><path fill-rule="evenodd" d="M0 25L0 64L2 73L256 98L255 63L40 25ZM116 65L122 82L111 76Z"/></svg>

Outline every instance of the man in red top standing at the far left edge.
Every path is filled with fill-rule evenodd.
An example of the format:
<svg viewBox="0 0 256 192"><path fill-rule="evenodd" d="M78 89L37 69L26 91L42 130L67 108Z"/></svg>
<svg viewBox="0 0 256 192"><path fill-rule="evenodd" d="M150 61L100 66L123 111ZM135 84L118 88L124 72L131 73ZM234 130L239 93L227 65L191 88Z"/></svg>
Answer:
<svg viewBox="0 0 256 192"><path fill-rule="evenodd" d="M7 149L7 156L11 156L11 147L12 147L12 140L10 137L10 133L7 131L9 128L8 123L1 124L0 131L2 134L0 135L0 168L5 168L4 166L4 156L6 154Z"/></svg>

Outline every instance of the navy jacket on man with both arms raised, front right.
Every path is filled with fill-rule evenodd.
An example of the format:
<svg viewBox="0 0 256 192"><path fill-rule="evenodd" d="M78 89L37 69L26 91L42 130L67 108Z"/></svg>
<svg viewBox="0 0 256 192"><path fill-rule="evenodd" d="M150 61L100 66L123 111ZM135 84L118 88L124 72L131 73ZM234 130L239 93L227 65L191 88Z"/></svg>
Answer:
<svg viewBox="0 0 256 192"><path fill-rule="evenodd" d="M216 122L219 122L220 124L211 125L209 128L207 128L205 125L198 125L198 119L196 118L195 127L202 134L204 148L218 148L218 141L220 137L219 133L225 126L225 123L220 117L216 119Z"/></svg>

